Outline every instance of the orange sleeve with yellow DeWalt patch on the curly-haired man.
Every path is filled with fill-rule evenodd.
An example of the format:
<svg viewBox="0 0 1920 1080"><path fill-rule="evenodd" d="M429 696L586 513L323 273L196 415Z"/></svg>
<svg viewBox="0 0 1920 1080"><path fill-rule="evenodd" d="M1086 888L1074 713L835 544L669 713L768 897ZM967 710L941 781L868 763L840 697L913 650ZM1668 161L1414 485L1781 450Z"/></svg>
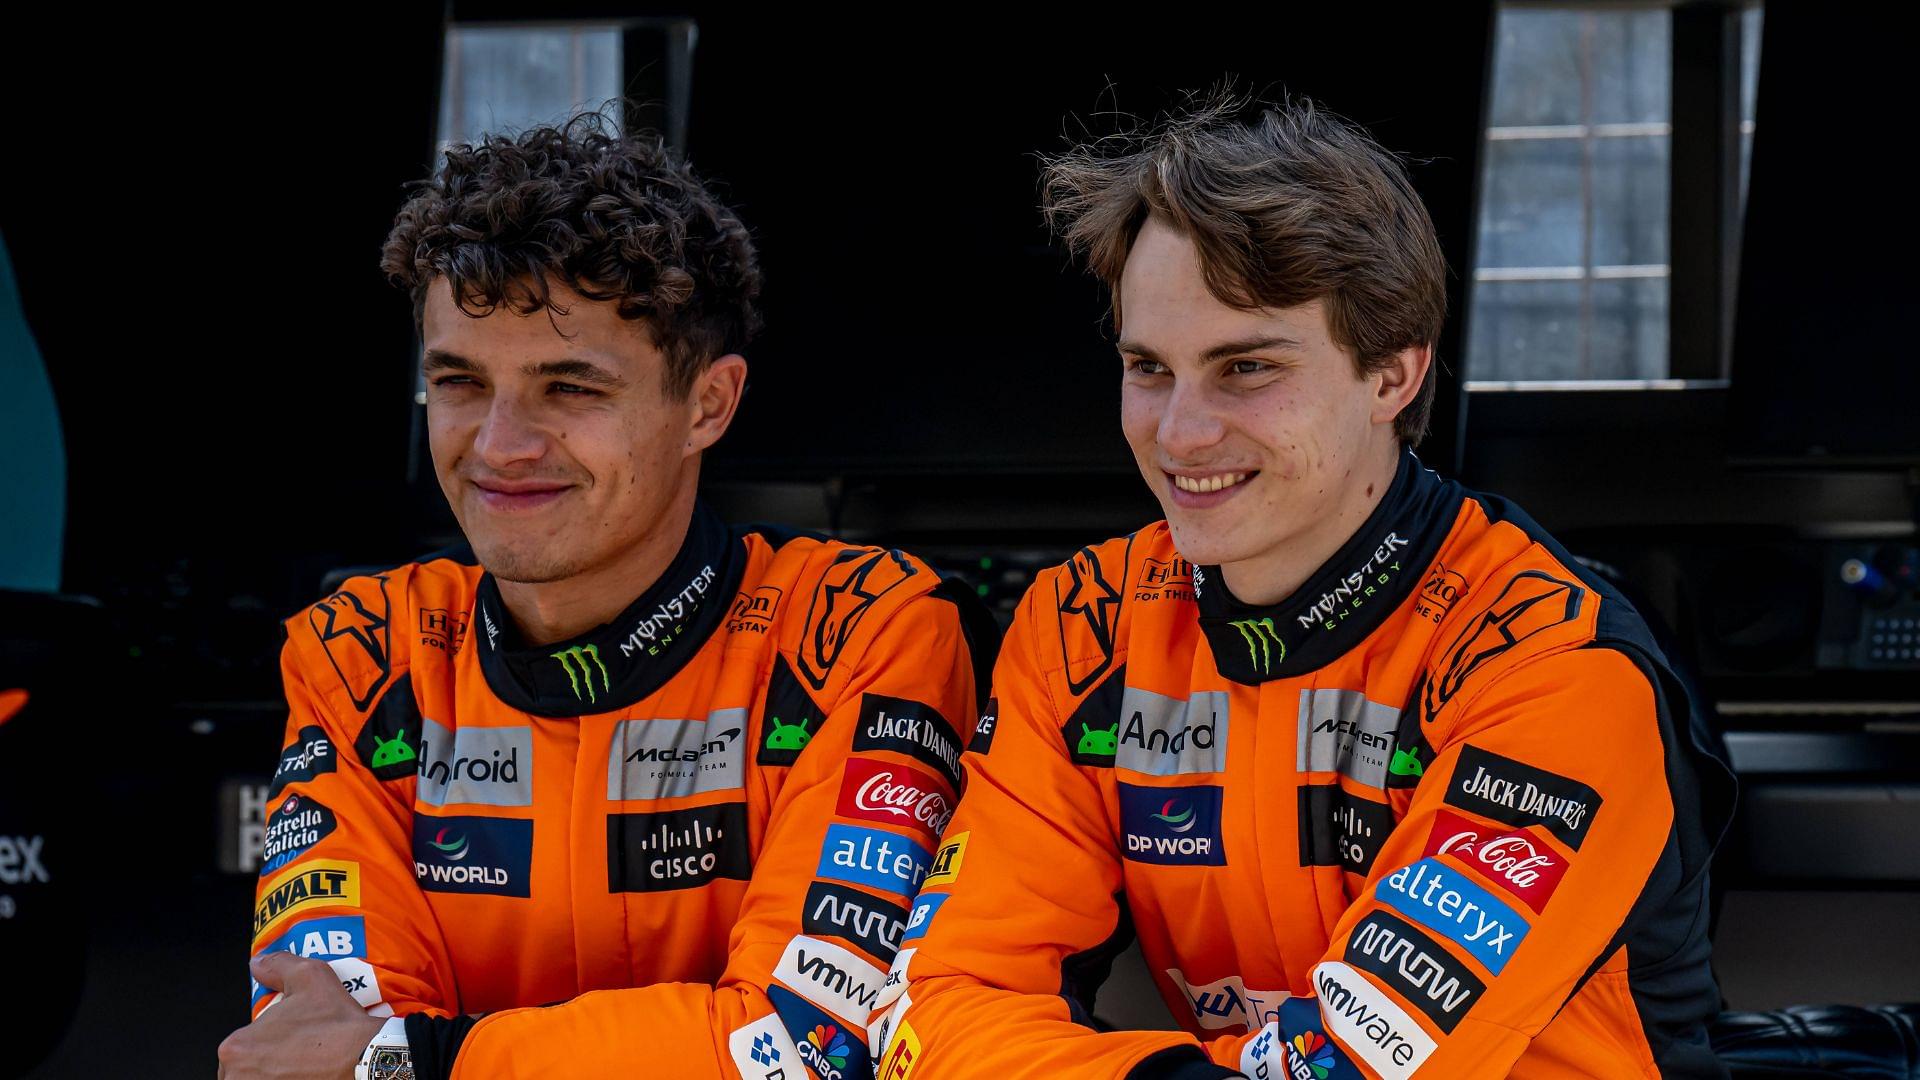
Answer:
<svg viewBox="0 0 1920 1080"><path fill-rule="evenodd" d="M384 613L388 582L355 578L340 594L288 621L280 651L286 686L286 746L267 798L267 846L253 897L252 953L288 949L324 959L340 984L371 1013L445 1015L459 1007L440 926L415 884L409 847L413 749L419 726L394 744L403 761L378 778L355 749L380 721L396 728L417 717L401 671L384 650L363 650L353 634L323 642L348 615ZM371 623L371 621L369 621ZM374 638L365 638L372 642ZM378 653L378 655L374 655ZM338 665L338 667L336 667ZM357 667L355 667L357 665ZM376 686L357 707L351 686ZM273 992L253 984L253 1015Z"/></svg>

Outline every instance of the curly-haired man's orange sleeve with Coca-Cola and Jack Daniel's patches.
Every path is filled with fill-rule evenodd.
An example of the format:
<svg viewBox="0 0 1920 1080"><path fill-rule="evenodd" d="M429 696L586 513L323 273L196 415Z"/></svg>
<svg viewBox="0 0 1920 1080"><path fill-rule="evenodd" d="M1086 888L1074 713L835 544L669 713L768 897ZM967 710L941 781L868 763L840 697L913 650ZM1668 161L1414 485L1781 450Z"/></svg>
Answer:
<svg viewBox="0 0 1920 1080"><path fill-rule="evenodd" d="M493 1013L467 1034L453 1078L612 1076L643 1063L649 1074L795 1080L812 1068L866 1080L866 1024L975 715L956 607L906 601L772 803L718 986L603 990Z"/></svg>

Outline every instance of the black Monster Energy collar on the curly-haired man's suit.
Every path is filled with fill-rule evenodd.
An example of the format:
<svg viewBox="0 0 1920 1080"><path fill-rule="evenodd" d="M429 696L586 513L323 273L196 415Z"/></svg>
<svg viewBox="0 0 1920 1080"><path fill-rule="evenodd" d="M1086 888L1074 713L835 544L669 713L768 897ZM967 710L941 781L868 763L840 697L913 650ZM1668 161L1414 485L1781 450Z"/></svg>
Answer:
<svg viewBox="0 0 1920 1080"><path fill-rule="evenodd" d="M507 617L493 575L480 577L472 638L480 673L501 701L536 717L611 713L680 673L726 617L745 571L739 536L705 503L666 571L605 626L528 646Z"/></svg>

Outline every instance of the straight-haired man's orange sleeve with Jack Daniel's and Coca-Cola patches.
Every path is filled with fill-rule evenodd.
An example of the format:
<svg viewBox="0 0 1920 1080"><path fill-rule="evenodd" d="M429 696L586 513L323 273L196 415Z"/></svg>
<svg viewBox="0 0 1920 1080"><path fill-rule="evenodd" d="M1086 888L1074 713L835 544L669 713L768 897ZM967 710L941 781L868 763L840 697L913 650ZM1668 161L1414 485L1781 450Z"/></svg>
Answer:
<svg viewBox="0 0 1920 1080"><path fill-rule="evenodd" d="M1427 726L1446 738L1309 970L1313 997L1210 1043L1215 1061L1284 1076L1284 1047L1331 1040L1334 1074L1498 1076L1586 980L1628 994L1603 965L1678 867L1670 728L1642 669L1551 653Z"/></svg>

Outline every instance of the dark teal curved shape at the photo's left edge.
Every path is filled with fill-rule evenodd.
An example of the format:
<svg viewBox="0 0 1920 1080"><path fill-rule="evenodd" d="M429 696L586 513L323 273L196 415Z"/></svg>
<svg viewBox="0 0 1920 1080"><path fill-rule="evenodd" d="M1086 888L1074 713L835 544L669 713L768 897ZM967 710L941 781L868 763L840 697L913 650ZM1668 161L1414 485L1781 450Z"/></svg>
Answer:
<svg viewBox="0 0 1920 1080"><path fill-rule="evenodd" d="M0 588L60 592L65 532L60 409L0 240Z"/></svg>

